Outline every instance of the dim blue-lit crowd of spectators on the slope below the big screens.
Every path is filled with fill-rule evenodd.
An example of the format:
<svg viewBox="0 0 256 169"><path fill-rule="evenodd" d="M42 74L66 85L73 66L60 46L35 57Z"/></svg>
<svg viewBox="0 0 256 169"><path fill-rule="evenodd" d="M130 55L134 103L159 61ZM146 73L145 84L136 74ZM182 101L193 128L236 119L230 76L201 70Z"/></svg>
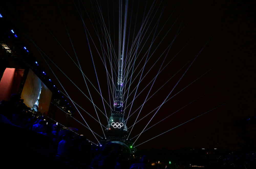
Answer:
<svg viewBox="0 0 256 169"><path fill-rule="evenodd" d="M136 159L118 144L94 145L86 137L63 129L45 114L31 111L17 94L0 102L0 122L49 137L54 158L65 163L75 161L87 168L151 168L145 157Z"/></svg>

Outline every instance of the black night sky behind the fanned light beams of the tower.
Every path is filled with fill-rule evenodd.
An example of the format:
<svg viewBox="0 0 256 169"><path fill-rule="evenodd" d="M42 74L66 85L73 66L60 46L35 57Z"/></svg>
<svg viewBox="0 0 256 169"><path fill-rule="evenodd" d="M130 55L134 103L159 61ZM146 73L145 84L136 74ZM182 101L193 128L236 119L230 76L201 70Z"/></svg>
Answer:
<svg viewBox="0 0 256 169"><path fill-rule="evenodd" d="M90 96L81 71L69 58L67 53L76 63L77 55L84 74L90 79L95 88L99 89L94 71L95 66L102 96L109 103L106 69L100 59L100 56L105 56L107 58L104 54L104 49L107 51L107 45L109 45L109 43L103 38L105 33L102 31L103 24L95 2L96 1L93 1L92 3L90 1L83 1L81 3L81 1L65 1L65 3L63 3L62 1L18 1L13 4L1 5L1 11L8 15L9 19L16 25L16 28L19 29L18 32L20 32L19 37L26 43L30 53L33 53L40 66L46 70L47 74L50 75L52 81L61 91L63 91L61 85L51 73L35 45L25 34L28 34L34 43L88 97ZM119 1L98 1L98 3L107 30L110 33L114 51L116 55L118 55ZM161 105L177 84L180 77L183 76L195 56L197 56L204 46L204 49L189 67L168 98L178 93L208 71L196 82L166 102L161 109L159 109L147 127L154 125L191 101L203 96L142 133L139 139L135 142L135 145L141 144L152 137L168 131L173 127L235 98L225 105L156 137L137 148L179 149L183 147L241 147L241 145L243 145L243 140L239 135L241 129L235 127L234 122L239 119L255 116L255 71L253 66L253 58L255 57L253 46L255 38L255 20L253 17L255 13L253 11L254 4L244 4L243 1L194 2L184 0L172 2L129 1L128 4L125 51L131 49L132 40L137 36L143 20L148 21L144 32L141 34L141 44L138 46L138 51L141 50L141 52L138 52L138 58L135 61L135 68L137 67L137 69L132 75L132 80L136 75L138 76L130 85L130 93L139 83L141 75L140 70L145 63L147 56L145 54L147 54L147 50L151 45L153 37L154 43L149 52L149 56L152 56L148 59L148 62L145 65L142 77L146 76L139 84L136 95L138 95L157 75L162 63L163 66L161 70L165 66L166 67L157 76L148 98L173 76L171 80L169 80L145 103L138 116L138 120ZM94 66L79 12L81 12L80 14L83 17L89 32L87 32L87 35L92 51ZM146 17L148 13L151 15ZM122 8L122 27L124 24L124 14L125 1L123 1ZM65 20L76 55L74 54L61 15ZM94 28L97 30L97 33ZM101 41L99 41L97 34L99 34ZM53 35L63 48L65 48L67 53L58 44ZM173 41L175 36L176 38ZM168 50L165 51L165 49L172 41L173 44L167 53ZM101 48L100 44L104 45L104 49ZM184 47L184 45L186 46ZM99 51L100 56L97 50ZM177 53L178 55L176 55ZM143 57L144 55L145 57ZM114 56L112 57L112 59L114 59ZM128 59L129 56L127 56L127 60ZM169 61L171 62L167 64ZM77 102L84 110L94 116L94 118L98 119L92 103L49 59L47 59L47 62L72 100ZM111 71L109 65L108 62L107 69L108 71ZM130 77L131 73L128 74L128 76ZM114 81L116 83L116 79L114 79ZM87 83L95 105L104 112L100 95L95 92L95 89L88 81ZM152 83L150 83L150 85L148 85L134 100L131 113L143 104L151 85ZM128 86L129 85L127 84L127 87ZM132 102L135 90L132 92L131 96L128 97L127 103ZM125 95L125 97L127 96ZM69 101L69 103L71 104L71 101ZM113 101L111 104L113 104ZM110 108L106 105L105 108L109 115ZM125 110L126 118L129 110L130 106ZM99 135L103 135L99 123L90 118L90 116L84 113L80 108L79 111L91 129ZM154 113L155 111L134 126L130 138L136 136L143 130ZM137 115L138 111L129 118L127 123L128 127L134 124ZM77 111L75 112L75 118L83 122ZM99 113L99 118L101 123L106 126L107 120L101 113ZM78 128L81 134L86 135L88 139L91 139L93 142L97 142L88 129L77 124L74 120L71 120L71 122L71 126ZM129 130L131 130L131 128Z"/></svg>

